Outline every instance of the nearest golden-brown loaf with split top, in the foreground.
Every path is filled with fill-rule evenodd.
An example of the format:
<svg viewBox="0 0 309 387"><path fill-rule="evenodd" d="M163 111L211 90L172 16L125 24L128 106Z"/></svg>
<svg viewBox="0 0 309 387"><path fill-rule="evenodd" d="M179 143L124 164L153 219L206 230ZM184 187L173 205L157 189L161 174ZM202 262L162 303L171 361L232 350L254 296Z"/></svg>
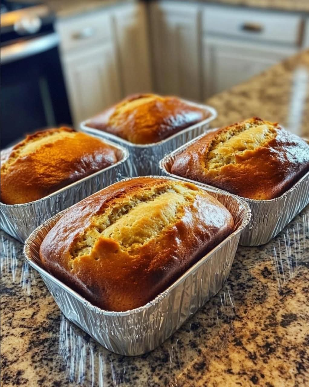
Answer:
<svg viewBox="0 0 309 387"><path fill-rule="evenodd" d="M232 215L190 183L141 177L74 205L40 247L45 268L94 305L145 305L232 233Z"/></svg>

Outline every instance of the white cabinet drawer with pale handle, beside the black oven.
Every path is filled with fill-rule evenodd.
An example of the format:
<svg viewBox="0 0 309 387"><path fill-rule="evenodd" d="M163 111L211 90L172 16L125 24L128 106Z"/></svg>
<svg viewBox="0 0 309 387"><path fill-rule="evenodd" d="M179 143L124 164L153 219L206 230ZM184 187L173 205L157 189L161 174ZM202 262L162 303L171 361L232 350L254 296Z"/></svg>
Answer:
<svg viewBox="0 0 309 387"><path fill-rule="evenodd" d="M112 35L110 17L106 12L81 15L57 22L61 49L64 52L109 39Z"/></svg>

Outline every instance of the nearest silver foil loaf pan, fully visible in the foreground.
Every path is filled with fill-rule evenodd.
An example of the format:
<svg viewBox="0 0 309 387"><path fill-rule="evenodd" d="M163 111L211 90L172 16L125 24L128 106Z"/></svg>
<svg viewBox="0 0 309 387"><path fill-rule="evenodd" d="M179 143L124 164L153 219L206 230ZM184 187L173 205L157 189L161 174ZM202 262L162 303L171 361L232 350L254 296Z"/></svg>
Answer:
<svg viewBox="0 0 309 387"><path fill-rule="evenodd" d="M214 188L203 189L228 208L235 230L167 290L134 310L110 312L95 307L43 268L39 259L40 245L48 231L68 210L48 219L29 236L24 255L40 273L65 317L105 348L122 355L152 351L221 289L230 273L240 233L251 216L249 206L240 198Z"/></svg>

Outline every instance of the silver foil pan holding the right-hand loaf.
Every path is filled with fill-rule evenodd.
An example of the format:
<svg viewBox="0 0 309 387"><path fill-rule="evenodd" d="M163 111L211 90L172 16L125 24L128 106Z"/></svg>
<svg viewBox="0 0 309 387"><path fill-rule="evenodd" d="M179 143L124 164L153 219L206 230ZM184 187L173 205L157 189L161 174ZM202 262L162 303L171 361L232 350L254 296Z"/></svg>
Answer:
<svg viewBox="0 0 309 387"><path fill-rule="evenodd" d="M216 129L213 129L216 130ZM182 176L173 175L170 171L176 157L205 134L179 147L165 156L159 163L161 173L186 182L195 183L200 187L210 185L196 182ZM222 192L226 192L221 190ZM239 244L243 246L259 246L274 238L290 221L309 203L309 172L302 176L287 192L271 200L254 200L242 197L252 213L247 227L242 231Z"/></svg>

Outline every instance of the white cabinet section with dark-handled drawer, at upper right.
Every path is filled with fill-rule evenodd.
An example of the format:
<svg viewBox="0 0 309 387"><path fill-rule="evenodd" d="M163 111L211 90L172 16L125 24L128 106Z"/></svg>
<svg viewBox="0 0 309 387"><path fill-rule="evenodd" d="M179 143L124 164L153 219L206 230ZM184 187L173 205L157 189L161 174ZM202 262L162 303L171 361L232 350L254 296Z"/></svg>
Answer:
<svg viewBox="0 0 309 387"><path fill-rule="evenodd" d="M204 98L299 50L300 14L206 5L201 23Z"/></svg>

